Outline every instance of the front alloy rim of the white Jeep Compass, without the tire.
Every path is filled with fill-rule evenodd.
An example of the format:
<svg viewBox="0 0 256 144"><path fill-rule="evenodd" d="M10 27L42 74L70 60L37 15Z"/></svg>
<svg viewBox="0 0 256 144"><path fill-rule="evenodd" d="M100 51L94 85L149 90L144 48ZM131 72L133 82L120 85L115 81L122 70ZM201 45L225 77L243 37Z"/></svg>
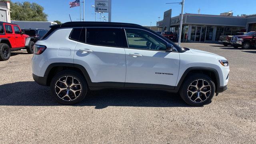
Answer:
<svg viewBox="0 0 256 144"><path fill-rule="evenodd" d="M204 102L207 100L211 94L210 83L203 79L194 80L188 86L188 98L192 102Z"/></svg>

